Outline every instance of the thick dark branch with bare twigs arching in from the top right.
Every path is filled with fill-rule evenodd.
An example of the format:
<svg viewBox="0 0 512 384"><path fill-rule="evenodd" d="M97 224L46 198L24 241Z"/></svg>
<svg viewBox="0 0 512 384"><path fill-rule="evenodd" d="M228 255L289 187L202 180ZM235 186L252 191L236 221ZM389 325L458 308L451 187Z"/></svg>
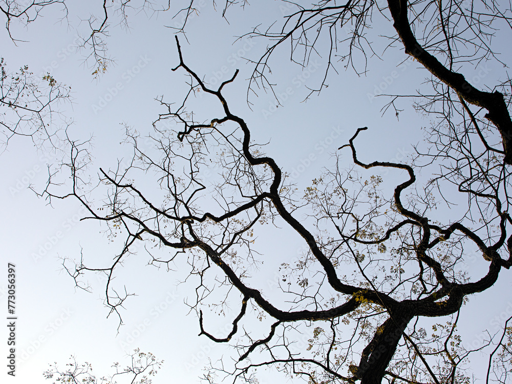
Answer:
<svg viewBox="0 0 512 384"><path fill-rule="evenodd" d="M389 37L389 47L394 44L401 45L407 55L417 60L432 75L429 83L434 93L419 93L423 100L417 103L417 108L428 114L437 114L441 111L439 104L443 105L442 110L450 113L450 118L443 119L442 124L448 125L453 124L451 116L455 113L467 115L464 121L473 117L467 104L486 110L483 117L495 127L502 138L503 150L498 150L501 151L498 153L504 153L505 163L511 164L512 152L509 152L509 147L512 120L508 110L510 95L506 92L510 79L506 77L503 82L489 87L490 92L485 92L475 88L459 73L468 69L467 64L476 68L479 63L490 60L496 60L506 67L506 63L500 60L499 53L491 47L491 39L496 36L496 31L508 28L506 23L510 20L510 8L501 7L494 1L448 1L443 4L390 0L381 4L361 1L342 5L333 1L322 1L312 4L310 9L291 4L297 10L291 11L285 17L282 27L264 32L255 28L249 33L251 36L264 36L276 41L255 62L252 79L259 80L263 86L271 87L266 75L269 73L268 58L273 51L284 42L289 42L292 47L292 60L298 56L299 62L304 65L317 51L317 45L321 45L326 37L323 33L328 35L330 41L329 47L323 50L327 51L329 57L326 78L327 72L333 67L332 59L336 56L341 61L348 61L345 68L350 65L356 72L365 73L367 52L375 54L372 43L365 36L370 27L372 12L379 12L385 18L391 16L393 28L397 32L396 36ZM504 25L500 25L502 21ZM348 28L348 33L343 33L343 28ZM422 35L418 37L419 33L415 33L415 30ZM343 37L339 38L339 35ZM338 54L338 50L341 50L338 45L347 45L346 51ZM359 69L360 66L354 60L354 52L364 56L365 65L362 69ZM320 92L326 86L325 79L311 93ZM477 80L480 79L477 77ZM390 105L394 105L394 99ZM397 114L398 112L396 110ZM487 126L487 121L481 123ZM480 131L476 121L474 124L477 131ZM482 141L485 140L482 138Z"/></svg>

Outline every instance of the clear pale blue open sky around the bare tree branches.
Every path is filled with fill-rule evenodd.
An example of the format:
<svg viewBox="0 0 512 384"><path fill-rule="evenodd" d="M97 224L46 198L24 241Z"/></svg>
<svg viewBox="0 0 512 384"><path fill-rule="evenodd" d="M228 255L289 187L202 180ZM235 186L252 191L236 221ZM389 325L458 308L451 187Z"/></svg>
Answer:
<svg viewBox="0 0 512 384"><path fill-rule="evenodd" d="M316 58L304 70L287 61L289 51L281 50L272 59L274 78L279 79L275 89L278 94L286 93L287 88L292 92L288 92L286 100L282 97L282 105L277 109L274 109L273 97L260 92L258 97L251 97L249 108L245 95L252 67L241 57L258 58L267 43L263 39L236 41L236 37L247 32L248 27L260 23L268 25L270 20L282 17L281 3L258 2L245 11L233 7L227 14L229 24L211 4L200 4L204 6L199 16L189 20L186 39L180 35L185 62L207 81L211 79L210 83L218 77L219 81L224 81L240 69L237 80L225 88L224 96L230 109L245 119L255 142L269 142L266 153L283 170L295 175L298 188L304 189L323 167L334 164L331 155L348 143L358 127L369 127L364 137L361 134L358 138L358 153L368 162L400 161L413 153L412 144L421 143L421 127L429 125L429 120L415 113L410 100L401 102L404 111L397 120L392 113L381 116L385 100L369 97L397 70L398 63L407 59L403 49L387 51L382 55L383 60L369 57L370 71L366 76L357 76L351 70L345 71L343 64L338 65L339 75L330 73L329 87L306 103L302 102L309 93L306 87L314 88L319 84L326 62ZM6 31L0 34L0 55L11 71L28 65L34 74L50 72L58 82L72 87L71 103L62 104L60 111L73 120L69 128L73 137L93 138L94 159L90 165L93 176L99 167L114 168L118 159L130 156L130 146L123 143L123 124L134 127L142 135L152 132L152 122L159 113L165 112L155 99L163 95L166 101L180 102L186 92L183 71L171 70L178 65L178 55L174 32L165 26L174 25L173 12L133 14L127 31L113 23L108 44L116 65L95 80L92 70L83 65L83 55L87 52L76 49L76 36L87 31L87 24L80 20L88 19L90 13L100 15L100 10L101 2L97 1L87 2L87 5L72 4L68 19L56 22L62 15L58 7L51 7L28 28L13 26L13 35L26 41L16 45ZM381 15L375 15L374 23L381 29L370 30L370 38L378 34L393 35L391 24ZM378 53L383 51L383 46L381 48ZM386 87L386 92L411 94L419 87L426 71L417 69L410 60L406 63L404 70L399 70L398 76ZM227 68L226 73L222 73L223 68ZM503 69L489 69L489 83L494 84L494 80L500 78L500 71ZM306 76L306 82L300 80ZM111 101L101 101L106 99ZM215 111L206 97L198 103L203 104L207 112ZM208 118L213 117L210 114ZM312 154L314 160L301 167ZM0 156L3 180L0 258L5 271L0 274L3 276L0 296L2 308L6 308L7 263L14 263L18 317L17 375L8 377L4 364L2 381L8 377L9 382L16 384L45 382L42 372L48 364L57 362L63 367L70 355L79 362L90 362L94 372L102 376L111 372L109 367L113 362L123 365L127 351L140 348L164 360L155 383L198 382L208 357L215 360L224 355L229 358L233 351L226 346L212 345L205 336L197 336L198 319L194 313L187 315L188 308L184 304L187 295L193 292L194 283L178 285L185 276L180 269L182 265L175 266L177 272L148 266L148 259L142 252L141 257L126 262L116 279L137 296L126 302L122 312L124 325L119 333L118 319L106 317L104 281L88 275L92 293L87 293L76 289L73 280L62 271L62 257L77 258L83 250L87 265L92 266L95 262L111 260L120 248L118 242L106 239L101 232L104 228L97 222L79 221L83 209L76 201L55 201L50 206L28 189L29 183L36 187L44 184L45 168L51 159L52 154L37 151L23 138L15 138ZM346 166L351 165L348 152L343 153L342 161ZM299 239L291 233L286 237L287 233L286 230L265 233L260 249L264 260L269 260L269 266L259 274L264 286L270 287L277 279L273 265L293 260L300 253ZM468 271L478 271L479 265L482 264L475 261L468 265ZM494 322L501 322L512 314L512 297L496 297L500 288L510 292L509 276L504 275L495 287L471 298L470 305L463 308L462 314L468 314L461 316L460 323L465 343L475 347L481 343L484 330L494 333L497 330ZM237 308L233 307L234 311ZM214 333L226 334L231 322L229 315L211 317L208 327ZM3 354L7 351L5 328L0 333ZM478 364L476 362L475 367L479 367ZM477 374L482 372L476 371ZM274 373L262 372L260 382L271 382L272 375Z"/></svg>

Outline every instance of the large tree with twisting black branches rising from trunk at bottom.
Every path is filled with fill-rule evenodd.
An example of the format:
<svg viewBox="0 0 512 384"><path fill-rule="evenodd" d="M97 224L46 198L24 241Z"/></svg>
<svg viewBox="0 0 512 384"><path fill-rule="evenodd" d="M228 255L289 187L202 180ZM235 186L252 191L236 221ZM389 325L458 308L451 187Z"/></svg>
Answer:
<svg viewBox="0 0 512 384"><path fill-rule="evenodd" d="M217 90L209 89L185 64L179 44L178 50L180 64L175 70L190 76L190 90L177 109L161 101L168 111L155 122L159 136L154 141L160 157L142 152L140 138L129 131L134 158L116 172L100 169L106 188L102 194L108 191L108 198L95 208L91 198L86 198L87 185L80 181L82 148L74 142L69 162L72 192L58 196L51 192L51 184L45 192L50 199L79 199L90 212L88 218L108 223L111 236L125 235L123 249L106 268L88 267L83 261L70 266L65 261L77 286L88 271L108 274L106 303L119 314L127 294L120 296L113 288L116 268L135 242L154 241L173 251L166 259L153 257L152 264L169 265L186 257L189 274L197 275L197 298L190 306L198 312L200 334L219 343L239 337L238 361L232 370L222 369L229 374L252 381L251 369L275 364L290 374L306 375L310 382L360 379L368 384L381 382L383 377L389 381L468 382L461 366L471 351L463 348L456 334L459 311L469 295L493 286L502 268L509 269L512 263L503 156L483 145L479 148L483 153L477 152L478 133L464 126L462 132L453 131L445 152L418 153L412 165L364 163L357 157L356 139L365 127L340 150L348 147L354 164L372 172L373 168L404 170L400 181L391 190L381 189L383 180L377 173L362 181L355 168L336 167L313 180L296 201L288 175L251 142L245 121L230 111L222 94L238 72ZM214 97L224 114L203 120L189 112L186 103L197 92ZM160 130L159 122L165 119L173 119L181 129ZM442 142L442 133L437 134ZM472 146L468 139L473 140ZM222 152L209 153L210 143L223 148ZM428 162L422 164L425 157ZM415 168L431 169L439 160L441 172L427 183L425 193L412 189ZM208 164L220 169L219 179L211 186L203 181ZM162 196L150 198L147 194L152 193L132 181L138 170L157 175ZM468 210L447 222L434 222L430 215L436 192L443 194L452 184L467 196ZM440 196L447 199L447 195ZM300 212L312 220L297 220ZM288 305L274 304L266 298L265 288L254 287L257 280L250 278L266 257L259 257L254 249L255 233L271 223L291 227L307 247L296 264L282 265L282 290L292 303ZM464 273L468 252L476 252L487 262L483 277L472 279ZM352 276L343 275L347 265L356 267ZM210 278L210 274L217 277ZM210 301L215 290L225 290L220 302L218 296ZM240 311L232 330L225 337L215 337L204 323L203 307L224 308L233 300L240 302ZM240 331L239 323L250 316L248 307L259 311L260 317L275 319L266 335L254 338ZM422 325L423 317L451 315L455 316L447 323L443 320L434 326L432 335ZM303 327L314 328L309 346L293 351L291 340ZM254 357L253 352L260 349L261 354Z"/></svg>

